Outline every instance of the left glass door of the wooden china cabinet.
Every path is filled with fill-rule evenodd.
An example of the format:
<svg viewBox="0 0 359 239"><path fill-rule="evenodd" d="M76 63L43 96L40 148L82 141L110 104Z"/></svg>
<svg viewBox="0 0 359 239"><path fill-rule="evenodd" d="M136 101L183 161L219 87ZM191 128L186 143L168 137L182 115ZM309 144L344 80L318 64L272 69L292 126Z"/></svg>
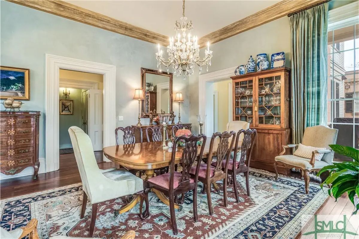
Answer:
<svg viewBox="0 0 359 239"><path fill-rule="evenodd" d="M253 79L234 82L234 120L253 126Z"/></svg>

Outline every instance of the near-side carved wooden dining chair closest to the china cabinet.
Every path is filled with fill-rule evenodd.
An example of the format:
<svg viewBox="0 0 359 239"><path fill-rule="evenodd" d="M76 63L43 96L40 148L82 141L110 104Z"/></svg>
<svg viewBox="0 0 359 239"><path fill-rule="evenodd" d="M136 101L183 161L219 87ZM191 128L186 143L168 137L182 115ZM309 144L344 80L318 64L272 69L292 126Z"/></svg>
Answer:
<svg viewBox="0 0 359 239"><path fill-rule="evenodd" d="M234 143L234 157L228 162L228 175L231 175L233 181L234 195L239 202L236 175L244 173L246 176L247 195L251 196L249 189L249 165L251 162L253 146L257 139L256 129L241 129L237 132L236 142ZM242 141L241 154L237 154L238 144ZM237 159L239 157L239 160ZM233 163L236 162L236 163Z"/></svg>

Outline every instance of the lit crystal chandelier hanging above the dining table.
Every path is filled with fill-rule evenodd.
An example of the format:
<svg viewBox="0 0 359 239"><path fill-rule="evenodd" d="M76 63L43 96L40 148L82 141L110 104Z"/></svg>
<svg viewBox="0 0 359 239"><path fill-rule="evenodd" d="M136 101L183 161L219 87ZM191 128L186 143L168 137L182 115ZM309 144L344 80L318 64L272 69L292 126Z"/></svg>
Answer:
<svg viewBox="0 0 359 239"><path fill-rule="evenodd" d="M207 42L207 49L205 50L205 57L200 58L200 46L198 43L198 38L196 36L192 37L191 32L193 29L192 21L186 22L187 18L185 17L185 0L183 0L183 16L181 22L176 21L175 31L176 36L169 38L169 46L167 46L168 60L163 58L163 52L160 49L158 44L158 52L156 53L157 67L161 72L161 65L164 65L167 68L172 64L174 74L176 76L182 76L183 80L186 80L186 76L193 75L195 64L199 66L201 73L202 66L211 65L212 51L209 50L209 42ZM188 33L187 33L188 30ZM175 42L176 40L176 42Z"/></svg>

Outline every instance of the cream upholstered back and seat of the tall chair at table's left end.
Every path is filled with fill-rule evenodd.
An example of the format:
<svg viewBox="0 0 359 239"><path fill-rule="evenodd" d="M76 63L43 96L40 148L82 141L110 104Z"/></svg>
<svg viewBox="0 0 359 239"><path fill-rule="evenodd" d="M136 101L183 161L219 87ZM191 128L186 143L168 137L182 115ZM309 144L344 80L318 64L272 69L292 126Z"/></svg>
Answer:
<svg viewBox="0 0 359 239"><path fill-rule="evenodd" d="M92 204L136 193L137 177L124 170L111 179L98 168L90 137L79 127L69 128L82 187ZM142 181L141 181L142 183ZM142 187L142 185L140 185ZM143 189L143 188L142 188ZM137 191L136 191L137 190Z"/></svg>

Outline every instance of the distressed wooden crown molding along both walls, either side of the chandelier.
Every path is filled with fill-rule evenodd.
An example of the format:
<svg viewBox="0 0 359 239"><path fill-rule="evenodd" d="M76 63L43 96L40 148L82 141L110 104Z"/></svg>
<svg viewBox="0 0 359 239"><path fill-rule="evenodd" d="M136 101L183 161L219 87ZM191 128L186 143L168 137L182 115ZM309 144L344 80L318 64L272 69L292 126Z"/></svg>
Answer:
<svg viewBox="0 0 359 239"><path fill-rule="evenodd" d="M162 46L168 45L168 37L159 33L151 32L144 28L136 27L129 23L110 18L109 16L90 11L79 6L66 3L61 0L7 0L12 3L27 6L29 8L45 11L57 16L62 16L71 20L92 25L94 27L109 30L136 39L151 43L159 43ZM247 16L224 28L209 33L199 39L201 47L207 46L207 41L211 44L233 37L239 33L258 27L270 21L279 19L283 16L302 10L309 6L323 2L324 0L283 0L255 14Z"/></svg>

